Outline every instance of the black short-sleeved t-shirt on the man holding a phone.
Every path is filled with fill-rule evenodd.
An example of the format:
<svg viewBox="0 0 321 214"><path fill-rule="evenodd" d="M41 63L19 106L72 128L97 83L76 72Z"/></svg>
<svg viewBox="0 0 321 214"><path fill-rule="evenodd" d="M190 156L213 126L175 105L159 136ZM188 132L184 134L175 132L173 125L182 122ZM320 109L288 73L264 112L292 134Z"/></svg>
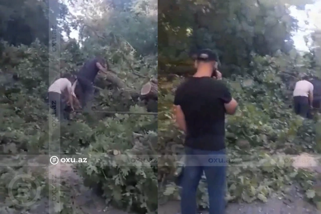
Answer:
<svg viewBox="0 0 321 214"><path fill-rule="evenodd" d="M174 104L180 105L185 115L185 145L202 150L224 149L224 104L231 100L226 85L211 77L192 77L180 85Z"/></svg>

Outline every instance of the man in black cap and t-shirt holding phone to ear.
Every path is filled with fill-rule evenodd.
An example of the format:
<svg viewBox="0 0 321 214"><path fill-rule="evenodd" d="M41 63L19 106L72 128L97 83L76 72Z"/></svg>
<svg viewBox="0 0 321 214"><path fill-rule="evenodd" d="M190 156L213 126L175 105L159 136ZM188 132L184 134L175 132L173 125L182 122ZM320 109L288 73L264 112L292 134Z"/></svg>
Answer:
<svg viewBox="0 0 321 214"><path fill-rule="evenodd" d="M175 95L176 123L186 133L182 214L197 211L196 191L203 171L208 182L210 214L225 213L225 114L234 114L238 104L220 80L217 64L214 52L201 50L195 61L196 74L180 85Z"/></svg>

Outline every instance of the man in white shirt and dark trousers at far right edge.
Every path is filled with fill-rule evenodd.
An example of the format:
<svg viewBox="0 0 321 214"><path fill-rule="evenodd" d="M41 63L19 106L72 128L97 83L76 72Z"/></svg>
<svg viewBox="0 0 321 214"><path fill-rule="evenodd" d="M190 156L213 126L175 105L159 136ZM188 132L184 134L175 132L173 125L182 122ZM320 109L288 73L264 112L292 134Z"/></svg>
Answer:
<svg viewBox="0 0 321 214"><path fill-rule="evenodd" d="M313 103L313 85L304 76L302 80L296 82L293 91L294 112L302 117L308 117Z"/></svg>

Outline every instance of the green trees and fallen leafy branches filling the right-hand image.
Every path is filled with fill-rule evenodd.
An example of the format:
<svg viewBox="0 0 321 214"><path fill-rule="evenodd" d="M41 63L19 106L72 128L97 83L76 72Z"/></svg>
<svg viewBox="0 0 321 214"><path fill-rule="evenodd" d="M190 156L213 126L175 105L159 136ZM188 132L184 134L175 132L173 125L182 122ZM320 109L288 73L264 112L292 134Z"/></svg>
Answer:
<svg viewBox="0 0 321 214"><path fill-rule="evenodd" d="M288 7L302 4L308 2L168 1L159 6L158 74L162 81L157 150L165 154L158 159L159 201L180 198L173 178L184 164L184 134L174 125L173 95L182 76L195 72L189 54L201 48L219 53L223 81L239 102L237 113L226 120L231 160L226 198L265 202L275 193L288 193L298 181L307 198L318 201L313 187L316 174L295 169L290 162L290 155L319 151L318 113L309 121L290 108L298 77L305 73L316 78L320 69L315 54L299 53L291 40L298 26ZM198 189L202 208L208 207L205 181L202 177Z"/></svg>

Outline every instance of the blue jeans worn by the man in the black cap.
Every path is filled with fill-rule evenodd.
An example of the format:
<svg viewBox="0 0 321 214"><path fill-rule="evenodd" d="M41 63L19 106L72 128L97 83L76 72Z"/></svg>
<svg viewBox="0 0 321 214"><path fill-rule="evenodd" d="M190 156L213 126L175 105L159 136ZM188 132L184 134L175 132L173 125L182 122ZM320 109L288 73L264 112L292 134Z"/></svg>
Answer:
<svg viewBox="0 0 321 214"><path fill-rule="evenodd" d="M218 160L219 159L219 160ZM224 160L223 160L224 159ZM216 160L216 161L215 161ZM209 193L209 214L225 213L226 150L207 151L186 148L186 166L182 176L181 213L197 213L196 191L205 172Z"/></svg>

